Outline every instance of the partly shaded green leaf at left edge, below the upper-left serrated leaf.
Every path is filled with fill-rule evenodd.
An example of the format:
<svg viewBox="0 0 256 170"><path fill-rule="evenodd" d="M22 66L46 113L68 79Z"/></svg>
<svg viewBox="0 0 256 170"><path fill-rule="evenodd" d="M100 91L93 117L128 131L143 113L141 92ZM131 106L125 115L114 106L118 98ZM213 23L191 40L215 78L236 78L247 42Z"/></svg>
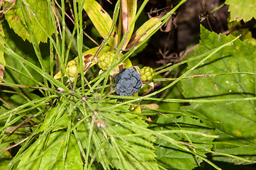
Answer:
<svg viewBox="0 0 256 170"><path fill-rule="evenodd" d="M33 49L33 45L31 45L29 42L23 42L23 40L16 35L16 33L13 32L8 26L6 22L2 23L4 26L4 33L5 33L5 40L8 43L11 50L16 52L16 54L23 57L23 59L28 60L29 62L32 62L33 64L40 66L38 62L38 58L35 55L35 51ZM42 55L45 56L43 61L45 63L45 69L50 69L50 60L49 60L49 45L46 44L40 44L40 49L42 52ZM1 47L0 47L1 51ZM9 67L6 67L6 71L4 73L4 80L6 82L11 84L23 84L26 86L35 86L35 82L28 77L35 79L36 81L43 81L43 77L38 74L34 69L31 69L30 67L25 67L22 62L18 62L14 57L11 55L5 54L5 60L6 65ZM2 62L0 60L0 62ZM18 70L19 72L22 72L26 76L19 74L18 72L15 72ZM28 73L29 72L29 73Z"/></svg>

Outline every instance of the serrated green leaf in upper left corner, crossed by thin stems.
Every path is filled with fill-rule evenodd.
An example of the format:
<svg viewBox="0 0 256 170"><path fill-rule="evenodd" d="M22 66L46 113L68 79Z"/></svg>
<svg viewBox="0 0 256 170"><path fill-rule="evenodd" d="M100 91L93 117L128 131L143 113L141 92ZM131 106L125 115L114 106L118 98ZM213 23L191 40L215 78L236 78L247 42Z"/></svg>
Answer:
<svg viewBox="0 0 256 170"><path fill-rule="evenodd" d="M16 5L11 8L10 11L4 14L10 28L13 28L15 33L18 34L23 40L28 40L31 42L28 31L29 27L31 33L35 37L35 41L38 42L38 44L39 42L47 42L48 35L52 35L53 33L52 22L50 21L50 15L48 13L48 1L27 0L26 2L28 3L28 6L22 4L25 11L25 16L23 16L23 12L21 11L21 6L18 1L16 1ZM11 6L10 3L7 4ZM33 8L33 11L35 12L31 12L29 8ZM46 35L43 29L38 25L37 20L41 23L48 35ZM28 23L28 27L26 26L25 21Z"/></svg>

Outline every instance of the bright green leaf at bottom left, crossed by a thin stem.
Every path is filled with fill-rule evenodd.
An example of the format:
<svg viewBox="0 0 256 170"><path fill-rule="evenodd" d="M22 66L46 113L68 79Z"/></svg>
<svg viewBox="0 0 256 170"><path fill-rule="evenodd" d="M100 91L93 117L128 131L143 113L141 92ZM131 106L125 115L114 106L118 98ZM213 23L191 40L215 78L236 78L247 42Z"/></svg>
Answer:
<svg viewBox="0 0 256 170"><path fill-rule="evenodd" d="M79 147L74 135L69 135L65 160L63 160L63 152L67 135L65 136L63 132L52 132L49 135L48 140L44 135L41 135L23 153L18 169L83 169L80 152L77 152Z"/></svg>

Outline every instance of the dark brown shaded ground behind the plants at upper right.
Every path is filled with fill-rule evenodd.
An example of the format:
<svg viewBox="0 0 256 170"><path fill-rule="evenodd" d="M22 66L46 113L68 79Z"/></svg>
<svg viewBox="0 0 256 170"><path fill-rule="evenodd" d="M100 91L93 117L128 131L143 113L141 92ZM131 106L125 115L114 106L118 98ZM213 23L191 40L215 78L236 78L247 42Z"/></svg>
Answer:
<svg viewBox="0 0 256 170"><path fill-rule="evenodd" d="M175 13L172 21L168 23L169 26L165 26L171 29L167 32L158 31L152 36L146 50L138 55L140 63L150 67L159 67L166 62L176 61L179 58L179 52L199 42L200 24L216 33L225 32L228 29L228 6L224 5L211 13L221 4L223 1L220 0L207 0L206 4L203 4L201 0L187 1ZM152 0L145 10L147 12L152 12L154 9L156 11L159 8L168 10L169 6L174 6L174 4Z"/></svg>

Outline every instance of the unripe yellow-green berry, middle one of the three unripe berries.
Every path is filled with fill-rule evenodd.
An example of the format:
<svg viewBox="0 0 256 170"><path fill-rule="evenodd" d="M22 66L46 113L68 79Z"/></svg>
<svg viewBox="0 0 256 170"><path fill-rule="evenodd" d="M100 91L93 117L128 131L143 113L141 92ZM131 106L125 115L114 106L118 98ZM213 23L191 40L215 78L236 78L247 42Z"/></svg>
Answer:
<svg viewBox="0 0 256 170"><path fill-rule="evenodd" d="M98 57L98 65L102 70L108 69L111 67L111 62L113 61L113 57L115 56L115 52L104 52L102 55Z"/></svg>

